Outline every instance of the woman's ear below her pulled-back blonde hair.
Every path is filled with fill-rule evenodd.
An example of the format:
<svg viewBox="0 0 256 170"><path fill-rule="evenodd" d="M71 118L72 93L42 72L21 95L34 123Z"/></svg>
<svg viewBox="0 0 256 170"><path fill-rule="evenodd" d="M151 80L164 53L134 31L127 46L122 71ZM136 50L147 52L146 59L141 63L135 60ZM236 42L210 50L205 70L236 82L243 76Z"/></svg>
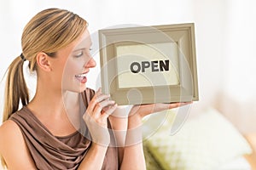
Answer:
<svg viewBox="0 0 256 170"><path fill-rule="evenodd" d="M44 52L39 52L37 54L37 64L43 71L51 71L49 56Z"/></svg>

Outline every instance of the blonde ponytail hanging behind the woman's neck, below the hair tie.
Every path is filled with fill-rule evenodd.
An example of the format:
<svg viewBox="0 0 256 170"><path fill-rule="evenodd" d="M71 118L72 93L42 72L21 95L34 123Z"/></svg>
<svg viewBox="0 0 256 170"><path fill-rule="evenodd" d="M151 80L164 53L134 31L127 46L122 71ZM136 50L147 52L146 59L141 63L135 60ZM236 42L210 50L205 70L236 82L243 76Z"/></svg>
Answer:
<svg viewBox="0 0 256 170"><path fill-rule="evenodd" d="M29 102L28 89L23 75L23 63L24 59L19 56L9 65L4 94L3 122L18 111L20 101L22 105L27 105Z"/></svg>

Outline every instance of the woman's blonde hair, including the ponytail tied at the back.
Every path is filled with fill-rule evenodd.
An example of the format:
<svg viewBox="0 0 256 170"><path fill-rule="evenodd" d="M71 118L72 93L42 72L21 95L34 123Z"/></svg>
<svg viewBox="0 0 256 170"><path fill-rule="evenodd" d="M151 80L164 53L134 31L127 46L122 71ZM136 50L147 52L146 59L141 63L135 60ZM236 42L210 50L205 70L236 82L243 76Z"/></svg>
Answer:
<svg viewBox="0 0 256 170"><path fill-rule="evenodd" d="M55 57L56 51L82 35L87 25L86 20L78 14L65 9L48 8L36 14L25 26L21 37L22 54L29 61L30 71L37 70L38 52ZM23 76L23 63L24 59L18 56L9 65L4 94L3 122L18 111L20 101L22 105L27 105L29 102L28 89Z"/></svg>

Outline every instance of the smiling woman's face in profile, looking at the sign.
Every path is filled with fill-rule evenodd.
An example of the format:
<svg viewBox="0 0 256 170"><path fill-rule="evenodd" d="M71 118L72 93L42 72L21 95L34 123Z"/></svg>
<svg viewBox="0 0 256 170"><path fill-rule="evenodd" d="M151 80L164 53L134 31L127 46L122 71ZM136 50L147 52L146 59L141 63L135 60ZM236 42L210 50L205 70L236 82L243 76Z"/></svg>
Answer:
<svg viewBox="0 0 256 170"><path fill-rule="evenodd" d="M55 65L61 78L62 91L82 92L86 88L87 74L96 62L90 55L90 33L84 34L66 48L57 52L59 63Z"/></svg>

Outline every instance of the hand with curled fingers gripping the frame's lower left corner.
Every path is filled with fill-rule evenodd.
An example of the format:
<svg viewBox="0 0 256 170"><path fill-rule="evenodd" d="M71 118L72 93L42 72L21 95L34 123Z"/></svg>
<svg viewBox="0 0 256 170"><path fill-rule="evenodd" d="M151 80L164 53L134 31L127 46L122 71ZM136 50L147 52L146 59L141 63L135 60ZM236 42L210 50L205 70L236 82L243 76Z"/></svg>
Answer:
<svg viewBox="0 0 256 170"><path fill-rule="evenodd" d="M83 116L91 139L96 144L108 145L110 136L108 133L108 116L113 113L117 105L113 100L109 100L108 94L102 94L101 88L90 100L87 110Z"/></svg>

